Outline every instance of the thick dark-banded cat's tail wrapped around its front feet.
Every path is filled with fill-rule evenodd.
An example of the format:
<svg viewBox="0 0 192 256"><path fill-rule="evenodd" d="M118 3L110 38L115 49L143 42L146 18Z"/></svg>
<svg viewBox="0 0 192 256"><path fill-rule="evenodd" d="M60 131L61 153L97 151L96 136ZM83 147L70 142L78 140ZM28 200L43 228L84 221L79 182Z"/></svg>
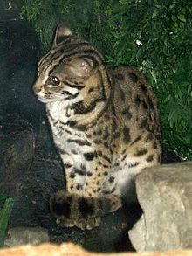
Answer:
<svg viewBox="0 0 192 256"><path fill-rule="evenodd" d="M50 197L50 210L56 218L96 218L121 207L120 197L108 194L102 197L80 197L59 190Z"/></svg>

